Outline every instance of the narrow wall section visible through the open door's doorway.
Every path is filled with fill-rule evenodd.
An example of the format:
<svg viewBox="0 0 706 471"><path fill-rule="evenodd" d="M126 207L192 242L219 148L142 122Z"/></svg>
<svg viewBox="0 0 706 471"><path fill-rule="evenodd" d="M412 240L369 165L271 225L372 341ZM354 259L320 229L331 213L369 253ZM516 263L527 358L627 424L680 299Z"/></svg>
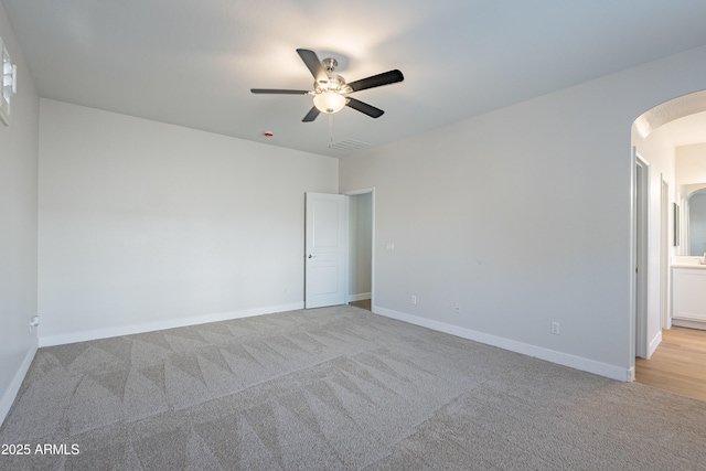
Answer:
<svg viewBox="0 0 706 471"><path fill-rule="evenodd" d="M349 299L371 299L373 193L349 196Z"/></svg>

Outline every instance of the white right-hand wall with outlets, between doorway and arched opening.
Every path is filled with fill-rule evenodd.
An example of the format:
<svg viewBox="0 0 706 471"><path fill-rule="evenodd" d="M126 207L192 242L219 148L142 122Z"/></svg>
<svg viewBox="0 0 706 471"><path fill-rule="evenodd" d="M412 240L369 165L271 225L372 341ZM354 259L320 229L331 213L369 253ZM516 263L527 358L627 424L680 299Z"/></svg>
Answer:
<svg viewBox="0 0 706 471"><path fill-rule="evenodd" d="M705 76L699 47L343 159L376 191L374 310L630 377L631 126Z"/></svg>

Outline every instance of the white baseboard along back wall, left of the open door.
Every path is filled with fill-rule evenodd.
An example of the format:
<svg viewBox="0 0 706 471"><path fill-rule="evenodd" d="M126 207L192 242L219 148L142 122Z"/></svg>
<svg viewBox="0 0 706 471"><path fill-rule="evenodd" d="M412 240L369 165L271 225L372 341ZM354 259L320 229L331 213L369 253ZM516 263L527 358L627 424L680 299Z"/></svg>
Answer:
<svg viewBox="0 0 706 471"><path fill-rule="evenodd" d="M253 315L271 314L303 309L303 302L269 306L265 308L245 309L242 311L220 312L216 314L199 315L193 318L170 319L159 322L146 322L143 324L121 325L110 329L99 329L83 332L72 332L61 335L40 336L40 346L64 345L66 343L86 342L89 340L108 339L111 336L131 335L135 333L152 332L157 330L183 328L189 325L205 324L208 322L227 321L231 319L250 318Z"/></svg>

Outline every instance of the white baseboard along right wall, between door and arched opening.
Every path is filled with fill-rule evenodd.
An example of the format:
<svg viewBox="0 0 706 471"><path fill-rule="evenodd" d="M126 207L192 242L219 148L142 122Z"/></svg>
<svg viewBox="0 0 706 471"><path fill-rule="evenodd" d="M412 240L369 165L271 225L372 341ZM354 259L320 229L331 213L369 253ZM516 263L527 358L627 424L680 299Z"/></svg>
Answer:
<svg viewBox="0 0 706 471"><path fill-rule="evenodd" d="M580 370L580 371L592 373L596 375L606 376L611 379L631 382L634 377L634 372L631 372L630 368L622 368L620 366L597 362L595 360L585 358L582 356L570 355L568 353L561 353L561 352L545 349L542 346L531 345L528 343L504 339L502 336L491 335L488 333L478 332L474 330L460 328L460 327L447 324L443 322L432 321L430 319L419 318L416 315L394 311L392 309L381 308L377 306L373 307L373 312L376 314L385 315L387 318L397 319L404 322L409 322L410 324L420 325L420 327L436 330L439 332L450 333L451 335L472 340L474 342L498 346L503 350L509 350L511 352L521 353L527 356L534 356L539 360L545 360L547 362L568 366L575 370Z"/></svg>

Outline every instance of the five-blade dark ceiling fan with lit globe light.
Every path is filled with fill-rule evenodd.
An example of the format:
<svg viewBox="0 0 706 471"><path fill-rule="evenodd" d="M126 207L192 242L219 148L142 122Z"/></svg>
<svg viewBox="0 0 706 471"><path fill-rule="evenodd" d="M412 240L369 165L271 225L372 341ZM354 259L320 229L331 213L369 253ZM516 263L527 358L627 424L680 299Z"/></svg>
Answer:
<svg viewBox="0 0 706 471"><path fill-rule="evenodd" d="M385 111L355 98L351 98L349 94L364 90L366 88L394 84L405 79L402 72L394 69L373 75L367 78L361 78L360 81L351 82L349 84L342 76L333 73L335 67L339 65L335 58L329 57L323 61L319 61L317 53L307 49L298 49L297 53L307 65L307 68L311 72L311 75L313 75L313 90L250 88L250 92L254 94L270 95L312 95L313 107L309 110L307 116L304 116L304 119L302 119L303 122L313 121L320 113L329 115L339 113L345 106L361 111L372 118L379 118Z"/></svg>

